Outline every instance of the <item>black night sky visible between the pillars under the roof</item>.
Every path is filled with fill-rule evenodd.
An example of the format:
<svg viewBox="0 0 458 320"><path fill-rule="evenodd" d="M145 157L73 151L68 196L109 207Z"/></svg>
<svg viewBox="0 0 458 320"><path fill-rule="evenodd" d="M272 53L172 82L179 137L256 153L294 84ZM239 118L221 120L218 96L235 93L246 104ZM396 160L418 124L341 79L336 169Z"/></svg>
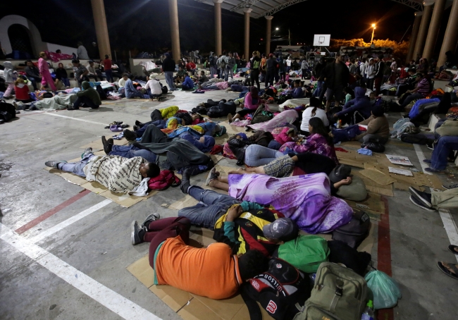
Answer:
<svg viewBox="0 0 458 320"><path fill-rule="evenodd" d="M45 0L25 9L24 3L10 2L1 15L18 14L32 20L42 34L44 42L76 47L82 41L91 55L91 42L97 41L92 7L89 0ZM15 7L16 4L16 7ZM29 10L30 9L30 10ZM110 0L105 1L106 18L112 51L118 58L128 58L140 51L162 51L171 47L168 2L166 0ZM447 22L450 8L444 15ZM180 45L182 50L214 50L213 6L193 0L178 0ZM371 39L371 23L377 23L376 39L400 41L414 22L414 9L394 1L346 0L304 1L273 15L272 30L287 35L292 44L313 42L314 34L330 34L334 39ZM264 52L260 41L266 37L266 19L251 19L250 51ZM243 51L243 16L222 10L223 49ZM443 34L445 25L441 28ZM404 39L408 39L411 27ZM439 37L440 38L440 37ZM261 43L261 44L260 44ZM273 42L272 48L280 42ZM286 44L286 43L283 43Z"/></svg>

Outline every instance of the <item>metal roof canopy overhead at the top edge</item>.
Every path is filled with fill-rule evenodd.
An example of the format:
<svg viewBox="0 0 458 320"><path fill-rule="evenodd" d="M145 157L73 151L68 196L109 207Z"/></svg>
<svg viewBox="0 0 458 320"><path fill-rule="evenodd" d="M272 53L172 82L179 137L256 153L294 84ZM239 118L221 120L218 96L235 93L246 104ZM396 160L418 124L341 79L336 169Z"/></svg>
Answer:
<svg viewBox="0 0 458 320"><path fill-rule="evenodd" d="M196 0L203 4L213 5L213 0ZM271 16L274 13L292 6L293 4L298 4L299 2L307 0L223 0L221 8L234 11L240 14L243 14L245 8L251 8L251 16L254 18L261 18L264 16ZM416 11L423 11L423 1L422 0L392 0L404 4L411 8L414 8Z"/></svg>

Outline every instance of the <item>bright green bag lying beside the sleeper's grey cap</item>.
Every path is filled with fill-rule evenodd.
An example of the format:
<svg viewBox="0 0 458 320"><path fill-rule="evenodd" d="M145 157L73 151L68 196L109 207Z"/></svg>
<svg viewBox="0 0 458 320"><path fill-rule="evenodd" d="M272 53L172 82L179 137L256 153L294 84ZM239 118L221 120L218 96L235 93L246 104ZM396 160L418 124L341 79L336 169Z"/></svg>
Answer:
<svg viewBox="0 0 458 320"><path fill-rule="evenodd" d="M328 261L326 239L318 235L299 235L278 247L278 257L305 273L315 273L321 262Z"/></svg>

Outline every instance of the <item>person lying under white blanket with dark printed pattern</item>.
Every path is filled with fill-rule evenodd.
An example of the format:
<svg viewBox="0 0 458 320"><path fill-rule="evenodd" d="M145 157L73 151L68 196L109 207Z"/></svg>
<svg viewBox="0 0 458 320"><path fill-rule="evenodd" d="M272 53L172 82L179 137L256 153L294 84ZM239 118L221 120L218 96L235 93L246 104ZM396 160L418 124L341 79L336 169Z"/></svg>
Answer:
<svg viewBox="0 0 458 320"><path fill-rule="evenodd" d="M122 156L95 156L92 148L87 148L78 162L46 161L46 166L75 173L87 181L97 181L108 190L128 193L142 183L143 178L159 176L159 166L140 156L127 159Z"/></svg>

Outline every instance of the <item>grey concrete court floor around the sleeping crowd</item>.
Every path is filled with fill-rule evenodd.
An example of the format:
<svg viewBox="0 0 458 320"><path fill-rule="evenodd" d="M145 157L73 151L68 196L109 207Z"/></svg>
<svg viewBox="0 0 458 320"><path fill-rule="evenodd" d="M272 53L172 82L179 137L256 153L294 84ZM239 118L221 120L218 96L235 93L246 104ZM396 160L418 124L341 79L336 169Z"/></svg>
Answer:
<svg viewBox="0 0 458 320"><path fill-rule="evenodd" d="M94 111L22 111L18 120L0 125L0 319L155 319L153 314L180 319L125 269L147 254L149 247L131 245L132 220L143 221L151 212L176 216L177 211L161 204L182 198L179 190L159 192L128 209L111 202L70 224L68 219L105 198L94 193L81 196L82 187L45 171L44 161L74 159L82 153L80 146L109 135L104 126L112 121L133 125L135 120L147 121L158 107L190 110L206 99L236 96L219 91L174 92L160 104L123 99L108 101ZM390 115L390 123L397 118L399 114ZM409 156L421 171L413 145L391 142L386 152ZM428 158L430 150L421 146L421 152ZM221 164L233 166L233 162L224 159ZM450 178L440 177L444 182ZM202 183L204 178L202 174L192 182ZM79 199L25 233L11 232L78 195ZM457 319L458 282L435 266L436 261L456 260L447 250L450 239L440 214L415 207L408 192L400 190L388 197L388 204L392 275L403 295L394 318ZM458 221L457 212L451 217ZM456 234L456 225L453 229ZM47 230L47 237L39 236ZM376 242L371 252L374 266L377 249Z"/></svg>

